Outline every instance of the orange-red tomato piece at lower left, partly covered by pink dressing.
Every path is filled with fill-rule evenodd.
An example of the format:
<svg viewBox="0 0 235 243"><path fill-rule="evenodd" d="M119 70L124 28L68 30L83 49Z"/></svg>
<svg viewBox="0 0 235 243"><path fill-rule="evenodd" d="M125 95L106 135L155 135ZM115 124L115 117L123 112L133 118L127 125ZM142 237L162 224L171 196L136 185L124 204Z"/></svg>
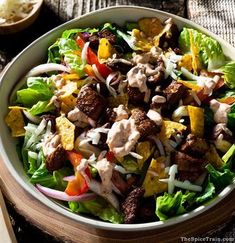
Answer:
<svg viewBox="0 0 235 243"><path fill-rule="evenodd" d="M69 161L71 162L71 164L73 165L76 171L76 167L81 163L81 160L83 158L82 155L75 151L67 151L67 155ZM85 169L85 173L89 178L91 178L91 172L88 167ZM75 176L76 177L74 180L68 182L68 185L65 189L65 192L69 196L76 196L76 195L83 194L87 192L89 189L84 176L80 172L76 171Z"/></svg>

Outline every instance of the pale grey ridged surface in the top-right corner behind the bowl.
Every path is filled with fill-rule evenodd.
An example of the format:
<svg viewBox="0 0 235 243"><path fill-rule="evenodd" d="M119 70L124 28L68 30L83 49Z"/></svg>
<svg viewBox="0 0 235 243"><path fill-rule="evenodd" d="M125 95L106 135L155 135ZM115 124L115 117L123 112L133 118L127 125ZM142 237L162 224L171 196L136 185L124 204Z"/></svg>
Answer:
<svg viewBox="0 0 235 243"><path fill-rule="evenodd" d="M188 0L188 18L235 47L234 0Z"/></svg>

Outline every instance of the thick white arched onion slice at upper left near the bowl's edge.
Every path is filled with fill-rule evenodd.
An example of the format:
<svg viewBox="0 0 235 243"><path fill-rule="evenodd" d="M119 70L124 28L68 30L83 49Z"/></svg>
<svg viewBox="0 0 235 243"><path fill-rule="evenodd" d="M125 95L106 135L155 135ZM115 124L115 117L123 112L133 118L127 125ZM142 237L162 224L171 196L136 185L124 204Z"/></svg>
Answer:
<svg viewBox="0 0 235 243"><path fill-rule="evenodd" d="M52 71L61 71L70 73L70 69L62 64L57 63L45 63L40 64L34 68L32 68L27 74L27 77L37 76L42 73L52 72Z"/></svg>

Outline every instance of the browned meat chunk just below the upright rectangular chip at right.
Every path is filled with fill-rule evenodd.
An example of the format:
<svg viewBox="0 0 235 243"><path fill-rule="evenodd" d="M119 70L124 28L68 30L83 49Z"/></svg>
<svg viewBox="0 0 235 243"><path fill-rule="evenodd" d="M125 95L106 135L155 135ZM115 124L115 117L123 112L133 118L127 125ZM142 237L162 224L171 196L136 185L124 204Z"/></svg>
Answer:
<svg viewBox="0 0 235 243"><path fill-rule="evenodd" d="M180 150L193 157L201 157L209 150L209 146L205 139L189 134Z"/></svg>

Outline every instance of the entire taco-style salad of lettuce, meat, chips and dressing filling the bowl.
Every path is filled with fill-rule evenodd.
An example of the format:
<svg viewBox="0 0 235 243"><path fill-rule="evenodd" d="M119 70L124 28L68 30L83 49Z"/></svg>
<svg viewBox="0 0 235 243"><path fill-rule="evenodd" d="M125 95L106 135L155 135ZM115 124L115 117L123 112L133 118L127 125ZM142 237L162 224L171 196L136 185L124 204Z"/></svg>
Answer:
<svg viewBox="0 0 235 243"><path fill-rule="evenodd" d="M11 96L29 181L76 214L165 221L234 180L235 62L156 17L65 30Z"/></svg>

